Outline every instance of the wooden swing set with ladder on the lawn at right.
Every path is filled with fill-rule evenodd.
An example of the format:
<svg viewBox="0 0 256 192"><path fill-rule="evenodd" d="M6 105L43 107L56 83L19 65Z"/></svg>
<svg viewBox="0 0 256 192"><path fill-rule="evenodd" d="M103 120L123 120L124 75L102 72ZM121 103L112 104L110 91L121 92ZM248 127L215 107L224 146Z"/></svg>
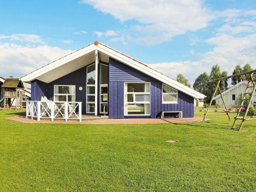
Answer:
<svg viewBox="0 0 256 192"><path fill-rule="evenodd" d="M215 89L215 92L214 92L214 95L212 95L212 98L210 100L210 104L204 114L204 118L203 118L203 121L205 121L207 115L210 115L208 114L209 112L209 108L210 108L210 105L212 103L212 101L214 100L214 97L215 95L217 94L217 91L219 90L220 92L220 96L221 96L221 99L222 99L222 102L224 104L224 112L226 113L226 115L228 116L228 119L231 120L230 118L230 115L229 113L231 112L230 109L229 109L229 99L228 99L228 108L226 106L226 103L225 103L225 99L223 98L223 95L222 95L222 92L221 92L221 88L220 88L220 82L222 80L225 80L225 79L228 79L228 82L229 82L229 79L230 78L233 78L233 77L236 77L237 78L237 83L238 83L238 77L242 76L242 75L246 75L246 74L249 74L250 78L249 79L246 79L247 81L247 86L246 86L246 89L244 91L244 94L243 94L243 84L242 84L242 79L241 79L241 84L242 84L242 101L241 103L239 103L239 95L238 95L238 99L237 99L237 106L236 106L236 112L237 112L237 115L236 117L234 118L234 122L233 122L233 125L232 125L232 128L233 130L236 130L238 129L239 131L242 131L242 127L243 127L243 123L244 121L247 121L247 120L256 120L256 116L252 116L252 117L247 117L247 113L249 111L249 108L250 108L250 105L252 103L252 98L254 96L254 94L256 93L256 77L254 77L254 73L256 72L256 70L252 70L252 71L248 71L248 72L243 72L243 73L238 73L238 74L235 74L235 75L230 75L230 76L227 76L227 77L221 77L221 78L218 78L218 79L215 79L217 81L217 85L216 85L216 89ZM252 86L251 86L252 85ZM252 92L247 92L249 88L252 88ZM229 91L228 91L229 92ZM239 94L239 90L238 90L238 87L237 87L237 94ZM228 93L229 95L229 93ZM246 95L250 95L250 98L246 98ZM225 97L225 95L224 95ZM228 96L229 97L229 96ZM248 104L247 106L244 104L244 102L248 100ZM243 116L240 116L240 114L244 112ZM235 127L236 126L236 123L238 120L242 120L239 127Z"/></svg>

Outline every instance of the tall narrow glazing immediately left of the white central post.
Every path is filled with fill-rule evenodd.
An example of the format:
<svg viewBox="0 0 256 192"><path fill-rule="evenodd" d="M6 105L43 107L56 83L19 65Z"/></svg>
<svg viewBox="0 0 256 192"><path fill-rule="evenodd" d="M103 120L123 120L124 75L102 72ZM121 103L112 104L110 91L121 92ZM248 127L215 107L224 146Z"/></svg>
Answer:
<svg viewBox="0 0 256 192"><path fill-rule="evenodd" d="M95 64L87 67L86 112L95 112Z"/></svg>

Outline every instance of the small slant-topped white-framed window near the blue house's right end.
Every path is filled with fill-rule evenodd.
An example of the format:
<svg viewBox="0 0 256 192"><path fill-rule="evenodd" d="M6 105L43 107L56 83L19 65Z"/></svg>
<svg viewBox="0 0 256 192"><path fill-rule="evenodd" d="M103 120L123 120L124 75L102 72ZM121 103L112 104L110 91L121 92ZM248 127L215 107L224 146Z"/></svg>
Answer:
<svg viewBox="0 0 256 192"><path fill-rule="evenodd" d="M162 103L178 103L178 91L162 84Z"/></svg>

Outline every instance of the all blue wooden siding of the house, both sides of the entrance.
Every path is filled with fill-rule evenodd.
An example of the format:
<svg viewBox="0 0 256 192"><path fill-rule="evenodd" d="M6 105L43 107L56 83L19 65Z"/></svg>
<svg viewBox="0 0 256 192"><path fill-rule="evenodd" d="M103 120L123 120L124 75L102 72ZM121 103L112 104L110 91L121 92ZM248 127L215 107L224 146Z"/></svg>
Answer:
<svg viewBox="0 0 256 192"><path fill-rule="evenodd" d="M98 75L99 76L99 75ZM151 83L151 115L124 116L124 82ZM76 101L82 102L82 113L86 113L86 67L65 75L50 83L39 80L32 81L31 100L40 100L47 96L53 100L54 85L75 85ZM83 90L79 91L79 87ZM100 90L98 90L100 91ZM99 93L99 92L98 92ZM98 103L99 103L99 97ZM99 111L99 108L98 108ZM110 118L160 118L161 111L182 111L183 117L194 116L194 99L182 92L178 92L178 104L162 104L162 83L131 67L110 58L109 61L109 117ZM167 114L168 115L168 114ZM178 114L169 114L176 117Z"/></svg>

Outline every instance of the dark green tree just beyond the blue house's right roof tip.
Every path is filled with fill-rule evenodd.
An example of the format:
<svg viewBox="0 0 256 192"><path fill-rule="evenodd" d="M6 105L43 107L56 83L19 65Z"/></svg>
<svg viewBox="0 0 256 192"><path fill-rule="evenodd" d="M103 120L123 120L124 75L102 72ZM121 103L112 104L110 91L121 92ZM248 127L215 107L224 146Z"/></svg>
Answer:
<svg viewBox="0 0 256 192"><path fill-rule="evenodd" d="M200 92L200 93L202 93L202 94L207 96L208 93L209 93L209 90L208 90L209 80L210 80L210 77L209 77L209 75L206 72L200 74L196 78L196 80L195 80L195 82L193 84L194 90L196 90L196 91L198 91L198 92ZM207 97L206 97L206 99L208 100Z"/></svg>

